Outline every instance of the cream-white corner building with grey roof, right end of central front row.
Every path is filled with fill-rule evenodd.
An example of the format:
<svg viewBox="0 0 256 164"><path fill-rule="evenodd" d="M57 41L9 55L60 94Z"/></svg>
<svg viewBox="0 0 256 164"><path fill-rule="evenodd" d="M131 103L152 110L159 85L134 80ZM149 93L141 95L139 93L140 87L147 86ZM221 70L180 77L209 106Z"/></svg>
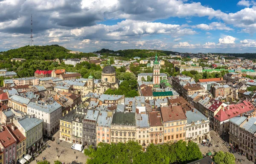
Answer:
<svg viewBox="0 0 256 164"><path fill-rule="evenodd" d="M186 141L201 143L209 139L209 119L196 109L186 111Z"/></svg>

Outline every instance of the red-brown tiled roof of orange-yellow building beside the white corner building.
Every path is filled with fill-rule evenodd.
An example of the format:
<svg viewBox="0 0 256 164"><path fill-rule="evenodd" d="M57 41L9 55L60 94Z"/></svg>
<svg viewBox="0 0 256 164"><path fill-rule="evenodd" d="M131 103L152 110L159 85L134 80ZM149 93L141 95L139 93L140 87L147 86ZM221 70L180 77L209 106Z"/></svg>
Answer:
<svg viewBox="0 0 256 164"><path fill-rule="evenodd" d="M163 122L170 122L170 121L177 121L186 119L186 115L181 107L178 106L171 106L171 107L160 107L161 115L163 118Z"/></svg>

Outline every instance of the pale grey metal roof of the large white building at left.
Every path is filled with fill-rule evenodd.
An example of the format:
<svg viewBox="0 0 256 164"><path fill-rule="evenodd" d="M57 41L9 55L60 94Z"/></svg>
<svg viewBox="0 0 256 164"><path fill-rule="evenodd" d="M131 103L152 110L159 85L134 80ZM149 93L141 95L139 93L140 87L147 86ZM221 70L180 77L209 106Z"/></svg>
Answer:
<svg viewBox="0 0 256 164"><path fill-rule="evenodd" d="M57 110L58 108L60 108L61 105L58 104L58 102L52 102L51 104L47 104L47 105L40 105L40 104L37 104L35 102L30 102L28 104L28 107L32 107L32 108L37 109L37 110L41 110L45 113L52 113L55 110Z"/></svg>

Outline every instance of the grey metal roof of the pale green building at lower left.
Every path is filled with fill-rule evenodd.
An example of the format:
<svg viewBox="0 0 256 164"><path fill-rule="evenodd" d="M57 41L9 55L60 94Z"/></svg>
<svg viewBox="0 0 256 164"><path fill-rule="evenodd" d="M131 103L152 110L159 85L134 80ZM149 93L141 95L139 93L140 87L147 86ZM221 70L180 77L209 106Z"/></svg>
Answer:
<svg viewBox="0 0 256 164"><path fill-rule="evenodd" d="M18 119L18 122L26 131L28 131L44 121L38 118L29 118L28 116L25 116L25 118Z"/></svg>

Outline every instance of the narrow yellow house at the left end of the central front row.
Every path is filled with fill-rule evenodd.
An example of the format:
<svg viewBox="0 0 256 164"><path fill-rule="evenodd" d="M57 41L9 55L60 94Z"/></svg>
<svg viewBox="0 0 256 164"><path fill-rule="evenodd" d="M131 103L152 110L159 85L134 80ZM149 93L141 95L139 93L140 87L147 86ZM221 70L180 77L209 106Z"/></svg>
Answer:
<svg viewBox="0 0 256 164"><path fill-rule="evenodd" d="M73 112L60 118L60 139L72 143L72 117Z"/></svg>

